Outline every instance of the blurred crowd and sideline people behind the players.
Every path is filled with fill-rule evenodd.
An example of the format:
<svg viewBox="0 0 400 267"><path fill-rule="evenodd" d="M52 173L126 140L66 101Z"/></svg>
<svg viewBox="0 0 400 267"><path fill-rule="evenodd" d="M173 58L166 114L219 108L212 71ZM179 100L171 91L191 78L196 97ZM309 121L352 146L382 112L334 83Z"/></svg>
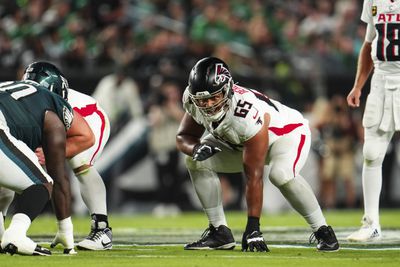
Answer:
<svg viewBox="0 0 400 267"><path fill-rule="evenodd" d="M322 206L358 208L363 108L350 110L345 97L364 40L362 2L0 0L0 81L19 79L33 61L59 66L72 88L93 95L110 116L111 141L98 163L110 210L139 202L125 210L173 214L198 207L175 148L181 94L198 59L220 57L235 82L307 114ZM383 207L399 202L391 179L396 147L395 138ZM221 180L227 208L241 209L241 174Z"/></svg>

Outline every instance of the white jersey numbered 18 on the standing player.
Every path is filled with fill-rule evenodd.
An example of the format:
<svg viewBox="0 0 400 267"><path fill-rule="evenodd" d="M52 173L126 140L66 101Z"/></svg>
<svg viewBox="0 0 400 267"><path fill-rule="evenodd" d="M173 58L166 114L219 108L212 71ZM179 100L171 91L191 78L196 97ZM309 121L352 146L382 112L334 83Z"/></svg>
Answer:
<svg viewBox="0 0 400 267"><path fill-rule="evenodd" d="M361 20L375 28L371 51L375 73L399 73L400 0L364 0Z"/></svg>

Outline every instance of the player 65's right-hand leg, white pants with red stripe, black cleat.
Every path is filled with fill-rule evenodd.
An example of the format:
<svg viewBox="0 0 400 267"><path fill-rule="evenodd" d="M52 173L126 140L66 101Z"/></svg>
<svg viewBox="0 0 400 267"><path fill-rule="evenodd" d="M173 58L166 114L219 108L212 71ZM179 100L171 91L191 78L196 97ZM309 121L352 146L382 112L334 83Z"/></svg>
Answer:
<svg viewBox="0 0 400 267"><path fill-rule="evenodd" d="M307 181L299 174L310 149L311 136L307 128L277 141L270 151L271 182L290 205L307 221L322 251L338 250L335 233L327 225L321 207Z"/></svg>

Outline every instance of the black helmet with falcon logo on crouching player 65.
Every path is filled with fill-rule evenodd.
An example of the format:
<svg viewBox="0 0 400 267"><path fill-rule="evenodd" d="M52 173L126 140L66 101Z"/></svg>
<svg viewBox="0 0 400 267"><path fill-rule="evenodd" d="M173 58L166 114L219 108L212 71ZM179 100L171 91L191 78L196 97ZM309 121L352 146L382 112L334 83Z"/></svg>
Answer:
<svg viewBox="0 0 400 267"><path fill-rule="evenodd" d="M209 121L218 121L228 111L233 95L233 80L228 65L216 57L199 60L189 75L188 91L191 101ZM220 101L205 106L204 101L222 93Z"/></svg>

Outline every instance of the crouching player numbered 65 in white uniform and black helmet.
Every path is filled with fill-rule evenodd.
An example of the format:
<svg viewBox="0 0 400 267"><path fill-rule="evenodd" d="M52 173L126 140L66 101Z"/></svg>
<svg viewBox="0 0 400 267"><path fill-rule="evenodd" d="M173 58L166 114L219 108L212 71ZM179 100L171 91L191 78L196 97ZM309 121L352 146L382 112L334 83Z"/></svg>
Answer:
<svg viewBox="0 0 400 267"><path fill-rule="evenodd" d="M183 106L177 146L187 155L186 166L209 220L202 238L185 249L235 247L217 173L244 171L248 218L242 251L269 251L260 231L265 165L270 165L271 182L310 225L317 249L339 249L312 189L299 174L311 135L298 111L234 84L228 66L215 57L203 58L192 68Z"/></svg>

